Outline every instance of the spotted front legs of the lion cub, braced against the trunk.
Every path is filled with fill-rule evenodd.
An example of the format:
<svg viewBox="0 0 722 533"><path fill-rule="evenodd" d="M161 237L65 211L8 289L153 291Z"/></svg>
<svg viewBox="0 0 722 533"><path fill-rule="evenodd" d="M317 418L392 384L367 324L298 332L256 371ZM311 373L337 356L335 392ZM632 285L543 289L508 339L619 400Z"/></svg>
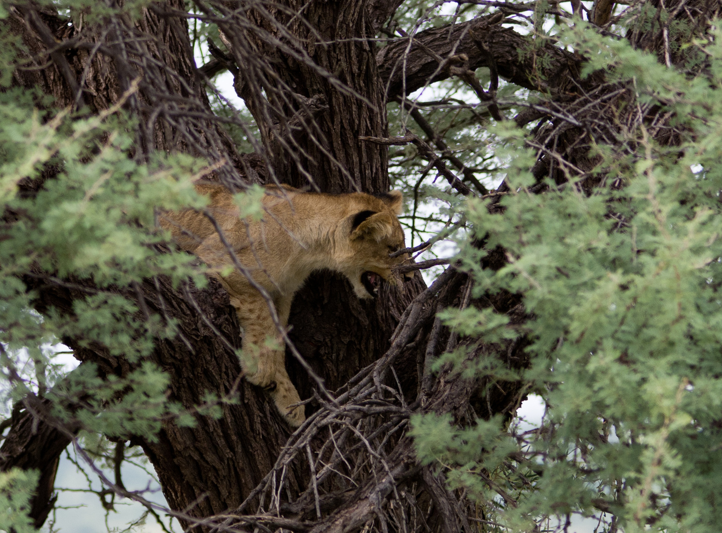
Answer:
<svg viewBox="0 0 722 533"><path fill-rule="evenodd" d="M303 405L291 407L301 400L286 372L283 338L271 318L268 304L258 292L253 292L255 294L245 294L240 299L231 298L243 327L241 368L248 382L269 392L290 426L300 426L305 413ZM282 327L287 325L289 311L290 301L281 299L277 312Z"/></svg>

